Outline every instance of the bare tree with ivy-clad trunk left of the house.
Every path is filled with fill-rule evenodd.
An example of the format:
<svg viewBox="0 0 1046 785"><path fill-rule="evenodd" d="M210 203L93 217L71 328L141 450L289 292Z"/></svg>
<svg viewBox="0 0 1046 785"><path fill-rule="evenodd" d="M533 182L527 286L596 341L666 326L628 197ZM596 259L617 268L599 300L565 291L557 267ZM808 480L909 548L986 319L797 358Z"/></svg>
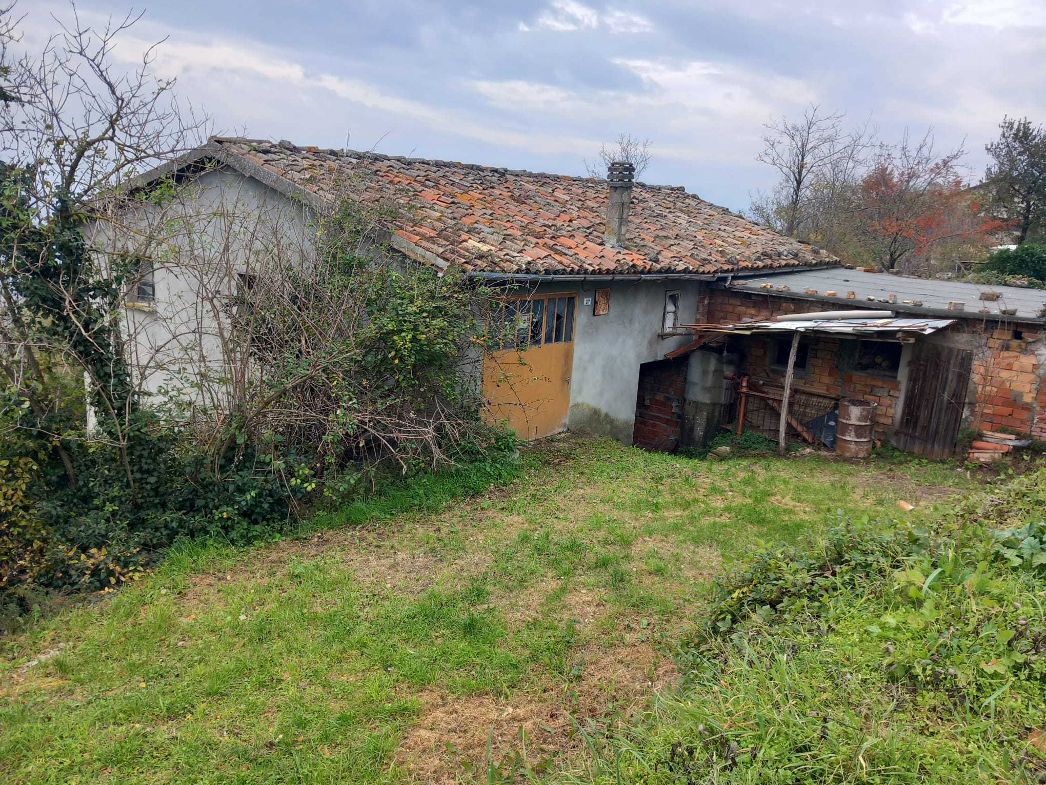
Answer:
<svg viewBox="0 0 1046 785"><path fill-rule="evenodd" d="M16 53L19 20L14 5L0 9L0 372L44 430L62 405L54 368L85 374L130 479L134 401L112 310L118 277L95 274L82 228L107 203L132 199L127 185L143 169L196 144L206 119L183 113L173 81L153 74L155 47L130 71L114 66L117 38L139 17L95 29L75 6L72 15L39 54ZM50 434L70 485L64 442L73 438Z"/></svg>

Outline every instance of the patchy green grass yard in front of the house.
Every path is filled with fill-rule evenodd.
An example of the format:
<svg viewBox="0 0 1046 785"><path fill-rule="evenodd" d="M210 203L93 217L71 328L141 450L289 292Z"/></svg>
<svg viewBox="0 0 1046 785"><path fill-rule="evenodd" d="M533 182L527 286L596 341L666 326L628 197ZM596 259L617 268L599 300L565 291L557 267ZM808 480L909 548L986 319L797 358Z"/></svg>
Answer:
<svg viewBox="0 0 1046 785"><path fill-rule="evenodd" d="M977 483L564 438L438 512L183 548L0 643L0 780L485 782L516 753L554 770L677 678L725 560L840 512L932 516Z"/></svg>

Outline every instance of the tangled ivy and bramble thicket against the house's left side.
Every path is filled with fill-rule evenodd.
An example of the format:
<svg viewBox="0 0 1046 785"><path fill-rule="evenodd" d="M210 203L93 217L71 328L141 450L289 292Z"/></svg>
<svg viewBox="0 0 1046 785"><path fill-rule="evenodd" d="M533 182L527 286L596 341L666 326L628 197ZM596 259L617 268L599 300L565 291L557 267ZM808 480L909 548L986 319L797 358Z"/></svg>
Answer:
<svg viewBox="0 0 1046 785"><path fill-rule="evenodd" d="M322 498L328 478L323 496L343 501L515 448L481 422L471 375L491 290L405 270L380 246L361 252L355 208L319 224L326 242L315 255L266 268L230 310L220 364L243 363L234 395L228 379L189 368L185 388L211 383L223 409L146 402L118 331L128 271L103 269L76 217L59 218L38 232L38 253L8 256L20 296L10 317L25 333L23 376L33 378L0 389L5 597L118 586L179 538L270 537ZM81 368L93 382L87 396ZM24 610L26 598L8 604Z"/></svg>

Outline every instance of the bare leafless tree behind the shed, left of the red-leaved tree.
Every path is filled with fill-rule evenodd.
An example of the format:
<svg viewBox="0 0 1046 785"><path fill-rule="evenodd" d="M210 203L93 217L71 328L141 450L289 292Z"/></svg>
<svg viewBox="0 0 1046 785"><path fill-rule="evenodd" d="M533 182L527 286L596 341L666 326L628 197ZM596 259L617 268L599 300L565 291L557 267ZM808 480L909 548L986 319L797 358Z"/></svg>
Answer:
<svg viewBox="0 0 1046 785"><path fill-rule="evenodd" d="M780 174L771 194L752 198L751 215L773 228L806 237L818 216L833 209L835 199L852 182L874 136L870 120L851 131L843 129L845 113L822 114L811 105L802 119L771 119L764 126L764 149L755 160Z"/></svg>

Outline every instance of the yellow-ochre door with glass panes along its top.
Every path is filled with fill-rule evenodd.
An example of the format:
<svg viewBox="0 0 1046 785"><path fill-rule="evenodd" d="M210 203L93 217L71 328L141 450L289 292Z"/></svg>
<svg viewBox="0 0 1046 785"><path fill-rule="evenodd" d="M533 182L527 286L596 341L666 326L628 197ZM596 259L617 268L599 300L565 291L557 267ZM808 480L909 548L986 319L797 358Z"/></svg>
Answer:
<svg viewBox="0 0 1046 785"><path fill-rule="evenodd" d="M496 311L509 328L502 347L483 360L487 422L507 421L527 440L558 433L570 406L576 295L506 299Z"/></svg>

